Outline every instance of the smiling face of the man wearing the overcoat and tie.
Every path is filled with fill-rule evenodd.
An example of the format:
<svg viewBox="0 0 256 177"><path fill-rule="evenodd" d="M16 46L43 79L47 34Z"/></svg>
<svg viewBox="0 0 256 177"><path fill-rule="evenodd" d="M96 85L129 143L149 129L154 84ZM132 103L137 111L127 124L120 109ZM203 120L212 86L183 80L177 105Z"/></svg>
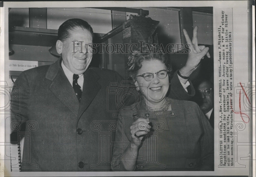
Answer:
<svg viewBox="0 0 256 177"><path fill-rule="evenodd" d="M75 50L73 51L73 42L75 42ZM82 52L80 46L80 42L82 43ZM62 45L62 60L63 64L74 74L82 74L86 71L89 64L92 60L92 53L90 52L91 48L88 44L92 43L92 35L91 33L80 27L70 30L70 36L65 39ZM74 53L76 52L76 53Z"/></svg>

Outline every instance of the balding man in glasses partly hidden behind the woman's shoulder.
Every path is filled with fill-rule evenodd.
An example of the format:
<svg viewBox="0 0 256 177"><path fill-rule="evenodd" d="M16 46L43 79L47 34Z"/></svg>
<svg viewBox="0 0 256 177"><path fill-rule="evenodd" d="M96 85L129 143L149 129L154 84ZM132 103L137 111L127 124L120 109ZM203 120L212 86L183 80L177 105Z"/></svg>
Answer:
<svg viewBox="0 0 256 177"><path fill-rule="evenodd" d="M199 82L197 91L201 99L199 107L205 116L208 118L212 128L214 128L214 87L209 80Z"/></svg>

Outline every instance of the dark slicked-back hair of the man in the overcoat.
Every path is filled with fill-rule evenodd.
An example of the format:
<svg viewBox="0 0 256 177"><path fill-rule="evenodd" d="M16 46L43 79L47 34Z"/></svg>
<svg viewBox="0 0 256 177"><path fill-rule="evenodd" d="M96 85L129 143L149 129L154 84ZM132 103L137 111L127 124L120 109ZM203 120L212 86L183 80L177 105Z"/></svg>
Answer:
<svg viewBox="0 0 256 177"><path fill-rule="evenodd" d="M63 42L63 40L70 36L70 31L76 28L86 29L92 34L92 37L94 37L92 27L87 23L87 21L79 18L72 18L60 25L58 30L58 40Z"/></svg>

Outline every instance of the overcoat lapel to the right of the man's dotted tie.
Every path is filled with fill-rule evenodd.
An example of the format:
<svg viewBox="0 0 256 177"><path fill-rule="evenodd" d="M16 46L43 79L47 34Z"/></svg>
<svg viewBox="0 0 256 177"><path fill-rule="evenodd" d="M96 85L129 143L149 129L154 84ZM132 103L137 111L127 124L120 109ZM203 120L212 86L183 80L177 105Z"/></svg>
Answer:
<svg viewBox="0 0 256 177"><path fill-rule="evenodd" d="M99 92L101 88L100 84L97 82L99 78L100 77L91 68L88 68L86 72L84 72L83 91L78 110L78 118L83 114Z"/></svg>

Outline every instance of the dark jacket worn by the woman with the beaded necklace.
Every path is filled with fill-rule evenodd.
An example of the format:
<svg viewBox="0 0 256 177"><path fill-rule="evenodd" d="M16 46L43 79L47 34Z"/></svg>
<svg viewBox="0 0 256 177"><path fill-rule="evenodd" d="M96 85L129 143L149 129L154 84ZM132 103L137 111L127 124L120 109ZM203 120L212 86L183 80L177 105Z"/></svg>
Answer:
<svg viewBox="0 0 256 177"><path fill-rule="evenodd" d="M161 115L147 114L143 103L140 111L118 115L113 170L125 171L122 156L132 141L130 126L138 118L148 118L152 128L142 139L135 170L214 170L214 132L204 113L191 101L171 99L170 105L172 111Z"/></svg>

